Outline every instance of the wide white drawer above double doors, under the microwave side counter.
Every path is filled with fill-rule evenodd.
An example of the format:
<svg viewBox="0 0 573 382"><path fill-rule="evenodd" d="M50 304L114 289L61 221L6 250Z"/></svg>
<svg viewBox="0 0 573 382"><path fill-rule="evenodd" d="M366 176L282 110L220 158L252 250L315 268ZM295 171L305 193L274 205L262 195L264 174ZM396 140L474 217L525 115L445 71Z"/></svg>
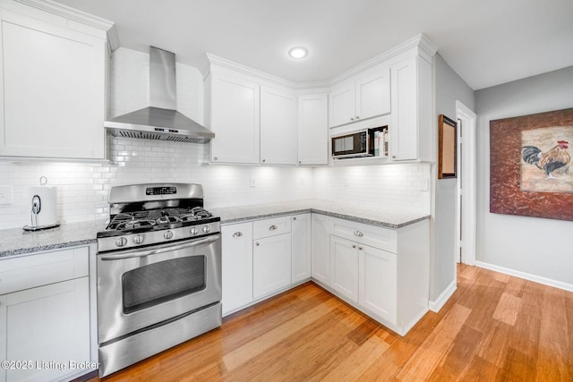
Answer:
<svg viewBox="0 0 573 382"><path fill-rule="evenodd" d="M333 233L374 248L388 250L392 253L398 252L398 233L389 228L335 219Z"/></svg>

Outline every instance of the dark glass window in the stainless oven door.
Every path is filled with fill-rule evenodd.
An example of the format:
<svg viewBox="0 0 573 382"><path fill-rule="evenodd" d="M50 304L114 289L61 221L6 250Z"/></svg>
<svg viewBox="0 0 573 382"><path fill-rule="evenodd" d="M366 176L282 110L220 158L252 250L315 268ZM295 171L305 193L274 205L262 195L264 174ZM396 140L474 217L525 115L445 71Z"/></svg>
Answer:
<svg viewBox="0 0 573 382"><path fill-rule="evenodd" d="M124 313L205 289L205 256L170 259L124 273Z"/></svg>

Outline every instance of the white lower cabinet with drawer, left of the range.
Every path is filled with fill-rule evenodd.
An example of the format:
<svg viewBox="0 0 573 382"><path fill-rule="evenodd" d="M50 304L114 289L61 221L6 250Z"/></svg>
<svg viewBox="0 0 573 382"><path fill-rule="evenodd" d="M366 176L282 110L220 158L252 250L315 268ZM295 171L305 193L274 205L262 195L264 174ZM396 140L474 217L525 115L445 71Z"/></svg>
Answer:
<svg viewBox="0 0 573 382"><path fill-rule="evenodd" d="M0 359L13 362L0 369L0 381L61 380L96 369L82 367L96 361L88 276L94 247L0 260L0 293L10 291L0 295ZM56 278L38 282L48 270Z"/></svg>

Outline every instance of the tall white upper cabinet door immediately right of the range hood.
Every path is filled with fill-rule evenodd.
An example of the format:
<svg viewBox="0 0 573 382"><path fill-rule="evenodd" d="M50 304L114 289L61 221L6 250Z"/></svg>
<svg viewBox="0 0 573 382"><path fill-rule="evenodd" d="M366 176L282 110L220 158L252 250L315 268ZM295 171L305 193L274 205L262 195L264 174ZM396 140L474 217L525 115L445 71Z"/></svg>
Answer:
<svg viewBox="0 0 573 382"><path fill-rule="evenodd" d="M259 163L259 110L258 83L232 72L211 72L210 130L215 132L212 162Z"/></svg>

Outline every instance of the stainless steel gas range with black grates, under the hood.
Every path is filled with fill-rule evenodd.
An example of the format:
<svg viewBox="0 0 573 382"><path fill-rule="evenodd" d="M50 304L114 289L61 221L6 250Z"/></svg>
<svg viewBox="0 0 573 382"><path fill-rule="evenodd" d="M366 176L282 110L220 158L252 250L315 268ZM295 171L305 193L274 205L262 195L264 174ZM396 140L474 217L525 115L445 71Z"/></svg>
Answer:
<svg viewBox="0 0 573 382"><path fill-rule="evenodd" d="M220 218L201 185L113 187L98 233L99 376L222 322Z"/></svg>

